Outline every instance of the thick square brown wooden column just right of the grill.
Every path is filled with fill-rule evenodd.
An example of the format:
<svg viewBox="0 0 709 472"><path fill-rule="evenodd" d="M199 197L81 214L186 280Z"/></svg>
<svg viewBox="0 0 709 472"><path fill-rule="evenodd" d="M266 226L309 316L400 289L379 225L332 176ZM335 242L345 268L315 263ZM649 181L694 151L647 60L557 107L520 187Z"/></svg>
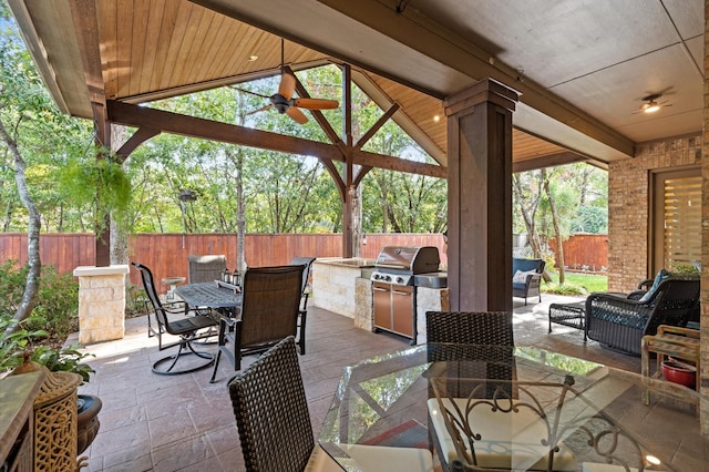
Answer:
<svg viewBox="0 0 709 472"><path fill-rule="evenodd" d="M451 310L512 311L512 112L492 79L445 100Z"/></svg>

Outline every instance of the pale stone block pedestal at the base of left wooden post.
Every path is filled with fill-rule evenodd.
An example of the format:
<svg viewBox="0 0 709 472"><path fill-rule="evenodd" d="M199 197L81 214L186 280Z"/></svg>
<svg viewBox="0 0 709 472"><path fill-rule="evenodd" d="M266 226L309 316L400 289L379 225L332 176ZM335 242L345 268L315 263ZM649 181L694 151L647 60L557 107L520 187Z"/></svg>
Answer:
<svg viewBox="0 0 709 472"><path fill-rule="evenodd" d="M79 277L79 342L122 339L125 334L127 265L74 269Z"/></svg>

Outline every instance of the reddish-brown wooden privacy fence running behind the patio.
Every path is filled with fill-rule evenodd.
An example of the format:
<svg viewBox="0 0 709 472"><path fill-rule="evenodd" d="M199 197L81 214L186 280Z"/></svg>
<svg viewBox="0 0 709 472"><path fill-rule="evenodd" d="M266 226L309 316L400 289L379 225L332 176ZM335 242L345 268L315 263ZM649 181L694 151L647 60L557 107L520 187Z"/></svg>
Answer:
<svg viewBox="0 0 709 472"><path fill-rule="evenodd" d="M155 278L187 277L188 254L224 254L229 269L236 265L234 234L138 234L129 239L130 259L145 264ZM555 242L549 242L556 249ZM374 259L383 246L436 246L441 261L448 264L443 237L439 234L367 234L361 257ZM340 234L247 234L244 238L246 263L251 267L288 264L295 256L339 257L342 254ZM42 234L40 257L42 264L54 265L61 274L78 266L92 266L95 258L93 234ZM600 270L608 266L608 237L606 235L574 235L564 242L564 255L569 268L588 266ZM0 233L0 260L27 263L27 234ZM138 284L135 270L131 281ZM160 289L164 289L158 284Z"/></svg>

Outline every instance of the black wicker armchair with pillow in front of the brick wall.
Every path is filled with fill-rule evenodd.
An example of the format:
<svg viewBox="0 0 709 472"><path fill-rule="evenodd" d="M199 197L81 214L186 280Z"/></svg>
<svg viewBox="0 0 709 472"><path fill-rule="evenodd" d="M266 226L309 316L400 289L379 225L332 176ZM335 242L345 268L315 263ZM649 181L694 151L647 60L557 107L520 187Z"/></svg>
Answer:
<svg viewBox="0 0 709 472"><path fill-rule="evenodd" d="M660 325L684 327L697 309L699 279L669 278L647 300L612 294L592 294L586 299L584 340L640 356L644 336L654 336Z"/></svg>

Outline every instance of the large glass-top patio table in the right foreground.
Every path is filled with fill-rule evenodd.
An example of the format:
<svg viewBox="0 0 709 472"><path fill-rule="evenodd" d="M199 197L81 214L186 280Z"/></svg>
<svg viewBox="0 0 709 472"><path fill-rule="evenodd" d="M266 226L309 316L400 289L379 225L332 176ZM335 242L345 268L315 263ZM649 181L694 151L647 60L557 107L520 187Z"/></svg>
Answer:
<svg viewBox="0 0 709 472"><path fill-rule="evenodd" d="M480 374L499 371L484 361L430 362L427 346L347 367L320 430L319 445L347 471L386 470L358 463L354 456L367 445L432 451L438 445L449 465L458 458L472 465L469 470L475 470L485 454L493 459L512 454L506 470L538 470L540 464L544 470L588 472L705 470L709 451L700 434L696 391L534 347L513 349L507 379ZM517 454L516 439L503 441L502 452L500 443L485 443L486 432L480 431L485 421L477 424L474 417L469 417L469 427L472 433L482 434L472 441L475 452L465 439L455 444L452 433L458 430L464 438L465 432L461 424L452 427L452 402L460 411L482 412L485 418L513 403L518 410L533 411L542 433L533 439L531 456L528 452ZM431 418L442 412L445 421L439 425L444 424L441 428L448 435L439 438ZM495 424L500 418L495 417ZM507 433L516 438L527 425L512 421ZM448 451L441 451L446 441ZM555 449L556 456L549 459L549 449ZM356 450L357 454L348 452ZM435 456L434 464L439 464Z"/></svg>

